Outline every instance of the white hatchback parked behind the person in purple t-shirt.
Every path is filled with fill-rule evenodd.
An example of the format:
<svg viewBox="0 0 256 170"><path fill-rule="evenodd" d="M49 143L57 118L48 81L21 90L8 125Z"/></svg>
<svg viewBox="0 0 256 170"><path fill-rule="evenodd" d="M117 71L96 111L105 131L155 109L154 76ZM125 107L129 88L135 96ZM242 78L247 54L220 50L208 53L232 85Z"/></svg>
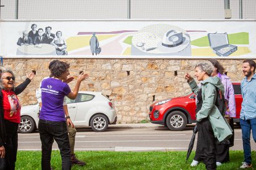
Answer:
<svg viewBox="0 0 256 170"><path fill-rule="evenodd" d="M103 132L109 124L116 124L117 115L113 103L101 92L80 91L75 100L67 98L69 116L75 126L91 126L93 131ZM30 133L38 128L39 104L23 106L20 111L20 133Z"/></svg>

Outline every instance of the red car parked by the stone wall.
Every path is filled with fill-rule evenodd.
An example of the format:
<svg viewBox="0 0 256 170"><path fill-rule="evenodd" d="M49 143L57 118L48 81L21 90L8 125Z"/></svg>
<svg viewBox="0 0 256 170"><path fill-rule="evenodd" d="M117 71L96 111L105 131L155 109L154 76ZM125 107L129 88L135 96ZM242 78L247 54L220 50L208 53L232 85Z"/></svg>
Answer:
<svg viewBox="0 0 256 170"><path fill-rule="evenodd" d="M239 123L242 95L240 83L232 83L236 99L236 118L234 122ZM151 123L163 124L171 131L182 131L187 124L195 123L195 94L182 97L160 100L150 105L148 116Z"/></svg>

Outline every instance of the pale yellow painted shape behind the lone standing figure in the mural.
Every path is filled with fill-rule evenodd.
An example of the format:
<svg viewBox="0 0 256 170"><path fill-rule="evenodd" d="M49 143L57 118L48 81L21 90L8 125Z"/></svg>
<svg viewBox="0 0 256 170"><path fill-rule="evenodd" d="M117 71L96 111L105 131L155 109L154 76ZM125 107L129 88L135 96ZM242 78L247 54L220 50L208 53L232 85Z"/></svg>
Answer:
<svg viewBox="0 0 256 170"><path fill-rule="evenodd" d="M113 38L118 34L105 34L105 35L96 35L98 41L103 41L105 39ZM75 49L80 49L82 47L90 46L90 39L92 35L87 36L71 36L66 39L67 41L67 51L72 51Z"/></svg>

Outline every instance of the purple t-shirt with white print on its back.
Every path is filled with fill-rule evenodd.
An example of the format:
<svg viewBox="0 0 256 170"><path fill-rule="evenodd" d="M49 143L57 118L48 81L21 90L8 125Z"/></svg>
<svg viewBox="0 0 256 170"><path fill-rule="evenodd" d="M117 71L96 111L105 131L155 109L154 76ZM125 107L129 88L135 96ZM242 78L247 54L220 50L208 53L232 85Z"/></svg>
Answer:
<svg viewBox="0 0 256 170"><path fill-rule="evenodd" d="M63 100L70 92L67 83L59 79L43 79L41 83L42 108L39 118L48 121L66 121Z"/></svg>

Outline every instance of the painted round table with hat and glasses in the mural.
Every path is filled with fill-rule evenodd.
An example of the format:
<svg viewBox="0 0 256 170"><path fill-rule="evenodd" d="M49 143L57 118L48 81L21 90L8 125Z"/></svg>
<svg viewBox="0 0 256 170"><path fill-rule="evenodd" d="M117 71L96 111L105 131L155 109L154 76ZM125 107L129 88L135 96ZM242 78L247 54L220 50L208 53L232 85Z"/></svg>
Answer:
<svg viewBox="0 0 256 170"><path fill-rule="evenodd" d="M174 25L143 27L132 37L132 55L191 55L190 36Z"/></svg>

